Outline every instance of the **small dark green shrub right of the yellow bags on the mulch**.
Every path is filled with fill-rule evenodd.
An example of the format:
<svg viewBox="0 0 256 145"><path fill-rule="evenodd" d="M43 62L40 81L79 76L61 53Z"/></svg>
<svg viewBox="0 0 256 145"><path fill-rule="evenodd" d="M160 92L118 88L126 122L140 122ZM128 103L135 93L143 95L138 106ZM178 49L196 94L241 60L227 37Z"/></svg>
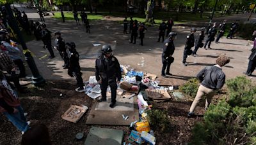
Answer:
<svg viewBox="0 0 256 145"><path fill-rule="evenodd" d="M150 127L156 129L159 128L161 131L167 131L170 128L170 119L166 111L161 109L150 109L146 113Z"/></svg>

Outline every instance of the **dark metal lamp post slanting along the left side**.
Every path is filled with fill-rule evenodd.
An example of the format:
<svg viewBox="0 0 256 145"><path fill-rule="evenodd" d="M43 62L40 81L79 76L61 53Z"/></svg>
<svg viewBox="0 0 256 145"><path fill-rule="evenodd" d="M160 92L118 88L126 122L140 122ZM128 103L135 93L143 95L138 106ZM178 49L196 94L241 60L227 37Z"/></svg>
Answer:
<svg viewBox="0 0 256 145"><path fill-rule="evenodd" d="M35 61L34 61L33 57L31 56L31 53L29 52L27 45L22 38L22 34L20 33L20 30L16 23L15 18L13 17L13 12L10 7L10 4L6 3L6 4L4 4L4 7L5 7L6 13L8 15L8 23L10 23L10 25L12 25L13 31L15 32L15 34L17 34L17 38L20 41L20 45L22 46L23 53L25 55L25 59L26 59L28 66L33 74L32 83L35 86L45 83L45 79L42 76L40 76L38 69L36 67Z"/></svg>

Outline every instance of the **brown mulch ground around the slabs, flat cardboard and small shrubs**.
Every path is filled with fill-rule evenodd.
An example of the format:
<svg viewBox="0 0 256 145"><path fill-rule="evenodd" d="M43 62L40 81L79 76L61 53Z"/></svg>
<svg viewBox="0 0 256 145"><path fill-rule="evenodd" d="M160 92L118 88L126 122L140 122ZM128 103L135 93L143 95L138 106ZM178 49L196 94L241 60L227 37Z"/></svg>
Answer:
<svg viewBox="0 0 256 145"><path fill-rule="evenodd" d="M86 125L86 118L90 110L84 113L77 123L71 123L61 119L61 115L67 111L72 104L85 105L91 109L95 100L86 97L84 93L73 91L76 88L74 81L48 81L42 88L29 86L30 92L20 95L20 101L24 111L28 113L28 120L31 124L44 123L49 128L52 144L84 144L86 135L91 127L103 127L124 130L124 141L128 144L130 134L129 127L125 126L104 126ZM60 93L63 95L60 97ZM184 144L191 138L191 128L195 123L202 121L204 114L204 101L196 108L196 118L188 118L187 113L191 100L154 103L159 109L168 111L172 120L170 132L154 130L157 144ZM0 115L0 144L20 144L21 133L15 128L6 117ZM75 136L78 132L84 132L85 137L77 141ZM133 143L135 144L135 143Z"/></svg>

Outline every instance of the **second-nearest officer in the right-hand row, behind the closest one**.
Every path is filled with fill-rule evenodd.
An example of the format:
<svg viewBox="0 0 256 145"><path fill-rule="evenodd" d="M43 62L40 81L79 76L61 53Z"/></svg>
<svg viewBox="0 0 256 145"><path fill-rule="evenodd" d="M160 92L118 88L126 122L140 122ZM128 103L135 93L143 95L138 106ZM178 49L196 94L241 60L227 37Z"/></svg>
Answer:
<svg viewBox="0 0 256 145"><path fill-rule="evenodd" d="M188 55L192 54L191 48L194 46L194 43L195 43L195 37L194 37L195 32L196 32L196 29L192 28L190 31L190 34L187 36L187 41L186 41L186 45L184 48L183 60L182 60L182 64L184 66L188 66L186 59L187 59Z"/></svg>

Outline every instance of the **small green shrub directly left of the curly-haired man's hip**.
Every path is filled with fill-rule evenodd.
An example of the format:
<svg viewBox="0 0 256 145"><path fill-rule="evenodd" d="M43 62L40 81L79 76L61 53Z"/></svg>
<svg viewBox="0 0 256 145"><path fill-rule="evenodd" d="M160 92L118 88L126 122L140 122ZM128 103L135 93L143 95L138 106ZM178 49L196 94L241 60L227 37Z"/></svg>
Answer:
<svg viewBox="0 0 256 145"><path fill-rule="evenodd" d="M199 83L200 81L197 78L191 78L180 87L180 91L191 97L196 97Z"/></svg>

